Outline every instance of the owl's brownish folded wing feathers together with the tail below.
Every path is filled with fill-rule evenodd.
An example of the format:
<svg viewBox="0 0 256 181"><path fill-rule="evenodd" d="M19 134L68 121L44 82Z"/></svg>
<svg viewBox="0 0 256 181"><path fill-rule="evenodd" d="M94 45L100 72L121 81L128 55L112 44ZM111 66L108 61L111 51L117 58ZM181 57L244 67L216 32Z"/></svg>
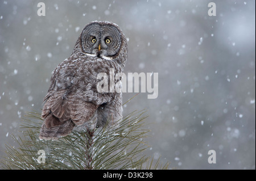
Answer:
<svg viewBox="0 0 256 181"><path fill-rule="evenodd" d="M75 94L68 94L67 90L49 92L42 110L44 124L40 130L40 139L54 140L67 136L75 125L82 125L89 121L98 106L92 102L77 99Z"/></svg>

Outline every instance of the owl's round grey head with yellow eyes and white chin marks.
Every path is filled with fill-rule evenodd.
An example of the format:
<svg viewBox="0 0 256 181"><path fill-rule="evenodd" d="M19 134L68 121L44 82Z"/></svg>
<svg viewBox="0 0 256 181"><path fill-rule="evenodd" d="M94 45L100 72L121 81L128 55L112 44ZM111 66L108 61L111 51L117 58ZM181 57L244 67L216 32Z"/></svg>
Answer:
<svg viewBox="0 0 256 181"><path fill-rule="evenodd" d="M117 24L110 22L87 24L80 35L80 46L86 55L106 60L114 60L123 53L127 56L125 36ZM123 56L119 58L126 60Z"/></svg>

